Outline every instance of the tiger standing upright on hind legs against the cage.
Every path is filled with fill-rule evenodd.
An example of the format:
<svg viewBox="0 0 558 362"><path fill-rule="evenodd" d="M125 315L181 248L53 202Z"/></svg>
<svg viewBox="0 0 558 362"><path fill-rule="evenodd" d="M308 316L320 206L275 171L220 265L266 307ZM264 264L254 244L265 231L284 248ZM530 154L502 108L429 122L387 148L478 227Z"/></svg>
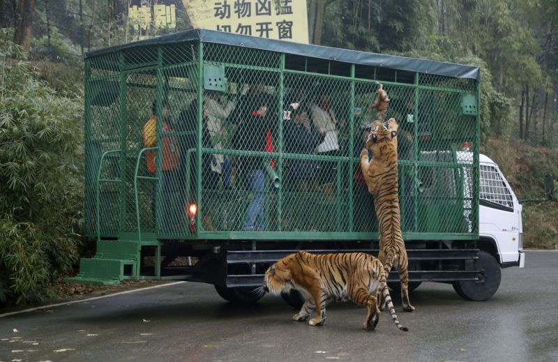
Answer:
<svg viewBox="0 0 558 362"><path fill-rule="evenodd" d="M382 111L379 114L384 114L387 103L389 98L380 84L377 99L372 107ZM379 225L378 259L384 264L386 277L392 266L397 269L401 280L403 310L412 312L414 307L409 301L408 289L409 261L401 232L398 197L397 130L398 124L393 118L389 119L387 127L380 121L372 123L366 149L361 151L361 168L368 191L374 196ZM368 150L372 151L371 160L368 160ZM383 309L384 302L380 302L379 306Z"/></svg>

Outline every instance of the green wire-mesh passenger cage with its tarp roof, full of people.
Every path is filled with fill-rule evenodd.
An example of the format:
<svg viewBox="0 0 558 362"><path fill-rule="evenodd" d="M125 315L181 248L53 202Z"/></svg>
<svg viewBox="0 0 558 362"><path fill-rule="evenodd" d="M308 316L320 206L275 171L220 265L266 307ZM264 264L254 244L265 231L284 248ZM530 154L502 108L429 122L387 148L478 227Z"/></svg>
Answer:
<svg viewBox="0 0 558 362"><path fill-rule="evenodd" d="M382 83L405 239L478 238L476 67L199 29L85 66L88 236L377 239L359 154Z"/></svg>

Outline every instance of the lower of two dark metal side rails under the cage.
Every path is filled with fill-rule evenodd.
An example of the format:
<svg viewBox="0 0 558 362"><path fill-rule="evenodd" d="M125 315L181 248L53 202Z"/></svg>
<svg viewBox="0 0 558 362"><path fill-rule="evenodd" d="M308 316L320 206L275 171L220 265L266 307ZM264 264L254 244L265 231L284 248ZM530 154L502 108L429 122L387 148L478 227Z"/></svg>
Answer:
<svg viewBox="0 0 558 362"><path fill-rule="evenodd" d="M409 282L453 282L455 280L478 280L481 271L409 271ZM396 271L389 273L389 282L398 282ZM227 287L259 287L264 274L227 276Z"/></svg>

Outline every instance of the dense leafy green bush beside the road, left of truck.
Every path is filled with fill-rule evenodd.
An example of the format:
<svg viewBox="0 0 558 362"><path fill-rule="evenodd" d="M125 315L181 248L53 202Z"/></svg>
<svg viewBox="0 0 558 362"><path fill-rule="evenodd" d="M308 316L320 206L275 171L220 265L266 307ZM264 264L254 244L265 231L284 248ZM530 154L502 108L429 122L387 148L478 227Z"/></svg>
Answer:
<svg viewBox="0 0 558 362"><path fill-rule="evenodd" d="M0 33L0 303L27 303L77 259L82 100L59 96Z"/></svg>

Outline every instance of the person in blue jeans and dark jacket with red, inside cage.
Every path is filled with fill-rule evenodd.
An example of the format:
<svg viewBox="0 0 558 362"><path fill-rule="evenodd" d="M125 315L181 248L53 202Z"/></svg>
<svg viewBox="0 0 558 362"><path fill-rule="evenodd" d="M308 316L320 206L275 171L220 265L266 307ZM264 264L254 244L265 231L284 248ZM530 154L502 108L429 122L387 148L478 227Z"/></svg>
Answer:
<svg viewBox="0 0 558 362"><path fill-rule="evenodd" d="M234 149L244 151L267 151L271 117L268 108L273 104L271 97L266 93L257 93L245 96L243 99L245 121L239 124L234 136ZM265 170L270 165L269 158L262 156L239 156L236 158L237 172L246 177L246 186L251 191L252 198L244 215L243 230L264 229L264 191L266 188Z"/></svg>

